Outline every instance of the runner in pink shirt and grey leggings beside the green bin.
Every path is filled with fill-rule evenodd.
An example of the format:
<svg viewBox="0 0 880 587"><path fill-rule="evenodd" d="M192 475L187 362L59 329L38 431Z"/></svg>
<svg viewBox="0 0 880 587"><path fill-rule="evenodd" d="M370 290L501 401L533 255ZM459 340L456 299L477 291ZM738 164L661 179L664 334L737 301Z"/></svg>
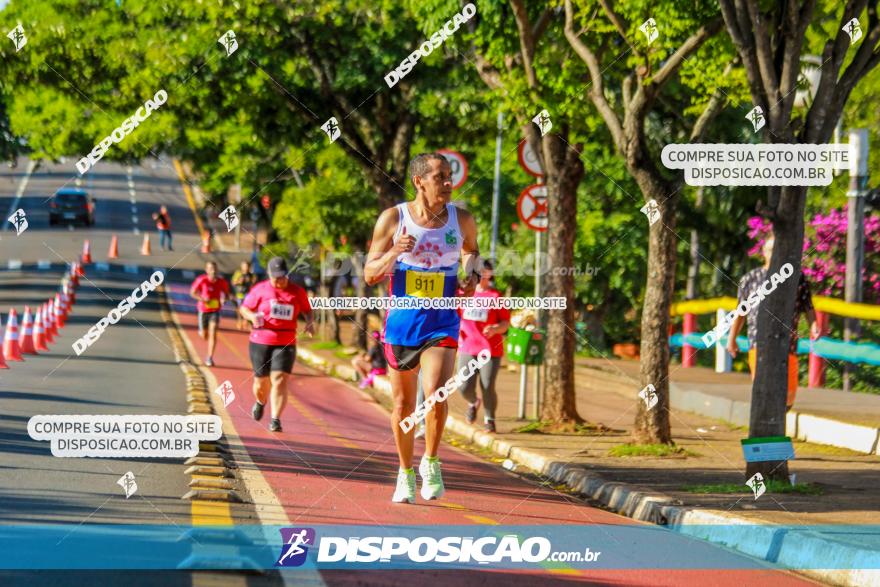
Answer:
<svg viewBox="0 0 880 587"><path fill-rule="evenodd" d="M501 292L495 289L492 282L493 267L490 261L483 262L480 272L480 283L474 292L475 298L500 298ZM477 378L471 377L460 388L461 395L468 402L465 418L468 424L477 419L480 404L484 405L486 432L495 432L495 406L498 396L495 394L495 379L501 368L501 357L504 355L504 338L502 335L510 327L510 310L504 308L467 308L461 314L461 331L458 335L458 364L456 371L467 368L468 363L476 361L482 350L489 350L492 360L480 367L480 391L482 401L477 397Z"/></svg>

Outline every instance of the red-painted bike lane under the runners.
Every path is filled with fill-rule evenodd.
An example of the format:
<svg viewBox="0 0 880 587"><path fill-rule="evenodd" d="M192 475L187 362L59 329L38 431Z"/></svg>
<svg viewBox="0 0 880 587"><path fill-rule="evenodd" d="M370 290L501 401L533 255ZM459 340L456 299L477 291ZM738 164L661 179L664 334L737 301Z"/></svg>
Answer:
<svg viewBox="0 0 880 587"><path fill-rule="evenodd" d="M198 336L193 307L184 300L185 289L173 285L170 293L185 335L203 357L206 343ZM253 376L247 336L247 332L235 330L234 318L224 316L218 331L215 366L210 370L218 382L232 383L236 398L227 407L231 422L292 526L640 524L524 480L448 444L440 450L446 486L443 498L425 502L419 497L414 505L394 504L391 494L397 453L388 413L354 386L297 362L289 382L288 404L281 416L283 432L269 432L268 406L261 422L251 417ZM417 439L414 466L423 450L424 441ZM603 547L627 548L608 536ZM358 576L363 580L364 572L321 571L321 575L328 584L335 585L356 583ZM488 580L487 572L478 571L368 573L369 584L397 585L428 577L442 577L444 582L461 585L486 584ZM768 570L554 568L488 573L493 583L503 577L510 585L569 581L615 585L812 584L791 573Z"/></svg>

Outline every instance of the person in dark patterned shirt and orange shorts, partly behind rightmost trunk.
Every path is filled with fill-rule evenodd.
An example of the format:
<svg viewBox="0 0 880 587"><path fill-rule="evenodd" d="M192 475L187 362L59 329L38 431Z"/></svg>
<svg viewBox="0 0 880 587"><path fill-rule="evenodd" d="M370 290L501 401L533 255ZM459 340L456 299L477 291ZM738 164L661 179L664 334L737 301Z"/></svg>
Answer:
<svg viewBox="0 0 880 587"><path fill-rule="evenodd" d="M767 281L770 276L770 260L773 255L773 236L767 237L764 246L761 249L764 255L764 265L757 269L752 269L746 273L739 283L739 294L737 296L737 304L747 300L761 285ZM788 350L788 395L785 400L785 410L788 411L794 405L795 396L797 395L798 384L798 359L797 359L797 327L801 314L807 315L810 322L810 338L816 340L822 336L819 323L816 321L816 312L813 310L813 297L810 295L810 288L807 280L801 272L798 278L797 299L794 303L794 318L785 324L785 327L791 331ZM749 371L752 374L752 381L755 380L755 367L758 363L758 351L755 344L758 340L758 312L757 308L752 308L746 316L748 319L748 335L749 335ZM743 322L746 318L737 316L730 327L730 335L727 340L727 352L730 356L736 358L739 347L736 344L736 336L742 330Z"/></svg>

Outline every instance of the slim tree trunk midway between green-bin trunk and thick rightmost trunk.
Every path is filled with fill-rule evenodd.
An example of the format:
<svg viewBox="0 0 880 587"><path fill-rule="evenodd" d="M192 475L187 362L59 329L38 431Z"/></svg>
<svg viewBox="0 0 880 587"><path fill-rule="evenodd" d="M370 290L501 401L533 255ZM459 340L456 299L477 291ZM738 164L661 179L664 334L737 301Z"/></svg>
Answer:
<svg viewBox="0 0 880 587"><path fill-rule="evenodd" d="M645 200L656 200L660 220L650 228L648 281L642 310L641 385L654 386L657 404L650 410L638 399L633 439L637 443L672 444L669 429L669 307L675 286L675 210L678 190L647 172L633 174Z"/></svg>

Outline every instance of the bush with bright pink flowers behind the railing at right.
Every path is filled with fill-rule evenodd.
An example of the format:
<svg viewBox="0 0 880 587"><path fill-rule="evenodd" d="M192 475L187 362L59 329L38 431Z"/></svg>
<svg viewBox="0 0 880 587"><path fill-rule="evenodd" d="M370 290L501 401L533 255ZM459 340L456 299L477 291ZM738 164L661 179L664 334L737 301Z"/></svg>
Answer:
<svg viewBox="0 0 880 587"><path fill-rule="evenodd" d="M813 293L843 299L846 273L846 206L817 214L804 227L804 275ZM760 255L771 224L760 216L748 220L755 245L749 255ZM880 216L865 218L865 267L862 273L866 303L880 303Z"/></svg>

